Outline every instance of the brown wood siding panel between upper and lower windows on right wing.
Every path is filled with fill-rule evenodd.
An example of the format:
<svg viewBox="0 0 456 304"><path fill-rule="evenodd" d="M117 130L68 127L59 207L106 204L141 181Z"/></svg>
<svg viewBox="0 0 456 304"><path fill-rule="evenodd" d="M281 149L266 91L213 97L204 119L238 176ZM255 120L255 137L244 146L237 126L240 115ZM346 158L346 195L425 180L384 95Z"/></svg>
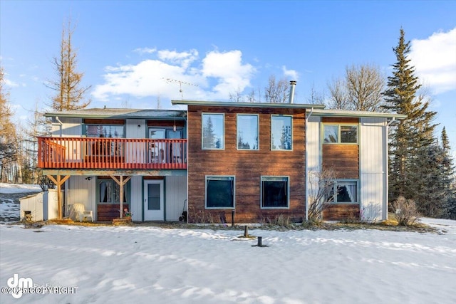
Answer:
<svg viewBox="0 0 456 304"><path fill-rule="evenodd" d="M333 169L337 179L359 178L359 146L323 144L323 169Z"/></svg>

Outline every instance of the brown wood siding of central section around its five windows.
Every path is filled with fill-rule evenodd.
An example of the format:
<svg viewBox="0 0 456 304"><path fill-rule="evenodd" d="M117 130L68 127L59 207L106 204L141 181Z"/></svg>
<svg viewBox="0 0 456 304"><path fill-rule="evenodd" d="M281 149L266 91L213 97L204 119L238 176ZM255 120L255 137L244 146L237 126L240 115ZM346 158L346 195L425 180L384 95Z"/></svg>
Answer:
<svg viewBox="0 0 456 304"><path fill-rule="evenodd" d="M224 113L224 150L202 150L202 112ZM259 150L237 150L237 114L259 115ZM271 114L293 115L293 150L271 151ZM235 222L259 222L279 214L301 221L304 216L305 110L188 106L189 222L231 222L232 209L205 209L205 177L235 177ZM289 209L261 209L261 176L289 177Z"/></svg>

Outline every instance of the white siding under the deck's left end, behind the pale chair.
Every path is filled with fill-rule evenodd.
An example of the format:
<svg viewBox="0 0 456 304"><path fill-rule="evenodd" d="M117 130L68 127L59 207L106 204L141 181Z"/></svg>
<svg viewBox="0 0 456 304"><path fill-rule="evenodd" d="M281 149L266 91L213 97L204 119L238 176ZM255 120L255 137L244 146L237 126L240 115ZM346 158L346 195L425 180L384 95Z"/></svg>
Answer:
<svg viewBox="0 0 456 304"><path fill-rule="evenodd" d="M96 214L96 191L95 177L73 176L68 179L68 191L66 194L66 211L65 216L68 216L68 206L70 204L83 204L86 210L92 210L94 221L97 219Z"/></svg>

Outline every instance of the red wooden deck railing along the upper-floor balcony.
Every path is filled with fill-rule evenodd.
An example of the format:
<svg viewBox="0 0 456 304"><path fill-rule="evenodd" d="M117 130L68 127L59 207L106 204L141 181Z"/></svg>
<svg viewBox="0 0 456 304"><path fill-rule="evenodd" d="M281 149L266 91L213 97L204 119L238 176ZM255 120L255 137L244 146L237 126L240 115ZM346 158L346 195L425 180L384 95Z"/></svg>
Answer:
<svg viewBox="0 0 456 304"><path fill-rule="evenodd" d="M38 137L42 169L187 169L187 140Z"/></svg>

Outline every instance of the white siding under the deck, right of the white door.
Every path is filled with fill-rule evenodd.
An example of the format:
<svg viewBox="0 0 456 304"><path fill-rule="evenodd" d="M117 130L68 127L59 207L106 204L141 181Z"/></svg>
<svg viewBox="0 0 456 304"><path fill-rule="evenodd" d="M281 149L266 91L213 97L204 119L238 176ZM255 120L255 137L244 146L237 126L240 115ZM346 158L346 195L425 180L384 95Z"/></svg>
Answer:
<svg viewBox="0 0 456 304"><path fill-rule="evenodd" d="M184 209L187 199L187 177L165 178L165 219L166 221L178 221ZM187 210L187 206L185 206Z"/></svg>

